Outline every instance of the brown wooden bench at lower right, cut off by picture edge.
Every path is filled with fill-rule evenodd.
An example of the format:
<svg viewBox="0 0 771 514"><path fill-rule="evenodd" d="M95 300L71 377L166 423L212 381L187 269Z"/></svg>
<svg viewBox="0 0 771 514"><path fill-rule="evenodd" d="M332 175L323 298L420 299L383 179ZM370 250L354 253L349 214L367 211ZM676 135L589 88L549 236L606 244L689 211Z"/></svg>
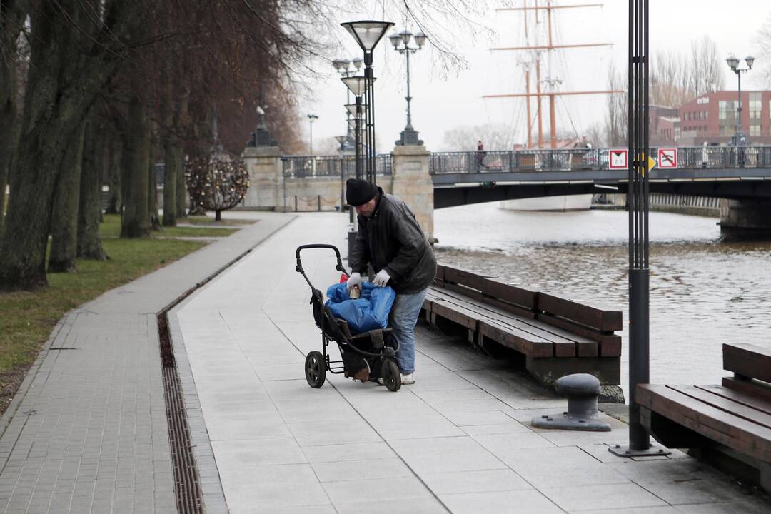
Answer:
<svg viewBox="0 0 771 514"><path fill-rule="evenodd" d="M669 448L771 490L771 349L723 344L722 385L638 385L641 422Z"/></svg>

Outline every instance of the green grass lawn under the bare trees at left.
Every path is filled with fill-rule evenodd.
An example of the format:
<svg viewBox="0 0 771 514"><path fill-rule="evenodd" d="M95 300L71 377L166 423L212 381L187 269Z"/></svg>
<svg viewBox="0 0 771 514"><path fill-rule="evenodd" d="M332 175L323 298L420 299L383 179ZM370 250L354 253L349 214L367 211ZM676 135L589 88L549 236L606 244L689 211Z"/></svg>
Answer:
<svg viewBox="0 0 771 514"><path fill-rule="evenodd" d="M206 227L167 227L149 239L122 240L120 217L105 216L99 227L109 260L78 260L76 274L49 274L42 291L0 293L0 414L56 321L105 291L157 270L207 243L160 237L225 237L235 230Z"/></svg>

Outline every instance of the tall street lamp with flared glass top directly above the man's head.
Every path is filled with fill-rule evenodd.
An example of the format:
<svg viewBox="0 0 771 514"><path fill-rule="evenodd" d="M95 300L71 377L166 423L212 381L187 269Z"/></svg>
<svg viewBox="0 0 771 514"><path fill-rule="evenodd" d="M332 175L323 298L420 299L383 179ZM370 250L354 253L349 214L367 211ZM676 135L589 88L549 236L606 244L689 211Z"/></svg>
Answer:
<svg viewBox="0 0 771 514"><path fill-rule="evenodd" d="M359 48L364 52L364 94L365 101L365 149L366 149L366 169L367 180L375 183L375 88L372 82L375 82L375 76L372 72L372 51L382 39L385 32L393 26L392 22L375 22L372 20L361 20L359 22L341 23L343 27L353 36Z"/></svg>

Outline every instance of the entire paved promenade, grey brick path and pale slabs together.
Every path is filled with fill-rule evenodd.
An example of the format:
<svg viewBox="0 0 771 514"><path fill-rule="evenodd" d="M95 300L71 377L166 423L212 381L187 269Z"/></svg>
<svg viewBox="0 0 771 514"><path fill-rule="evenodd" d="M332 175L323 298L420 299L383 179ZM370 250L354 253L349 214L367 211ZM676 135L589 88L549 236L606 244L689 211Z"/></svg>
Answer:
<svg viewBox="0 0 771 514"><path fill-rule="evenodd" d="M295 247L345 247L347 217L230 213L253 226L104 294L59 322L0 418L0 512L176 512L156 314L170 311L206 512L769 512L675 452L616 458L610 433L543 431L559 412L506 363L419 331L398 393L305 382L320 348ZM335 282L331 252L303 254Z"/></svg>

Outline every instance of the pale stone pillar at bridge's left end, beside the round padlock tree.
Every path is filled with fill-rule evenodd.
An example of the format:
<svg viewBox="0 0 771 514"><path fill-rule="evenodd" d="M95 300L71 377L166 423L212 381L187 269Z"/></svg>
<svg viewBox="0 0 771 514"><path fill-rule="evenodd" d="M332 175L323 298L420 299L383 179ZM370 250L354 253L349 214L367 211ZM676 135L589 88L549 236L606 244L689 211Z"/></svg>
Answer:
<svg viewBox="0 0 771 514"><path fill-rule="evenodd" d="M249 189L240 207L284 210L284 173L278 146L247 146L241 154L249 173Z"/></svg>

